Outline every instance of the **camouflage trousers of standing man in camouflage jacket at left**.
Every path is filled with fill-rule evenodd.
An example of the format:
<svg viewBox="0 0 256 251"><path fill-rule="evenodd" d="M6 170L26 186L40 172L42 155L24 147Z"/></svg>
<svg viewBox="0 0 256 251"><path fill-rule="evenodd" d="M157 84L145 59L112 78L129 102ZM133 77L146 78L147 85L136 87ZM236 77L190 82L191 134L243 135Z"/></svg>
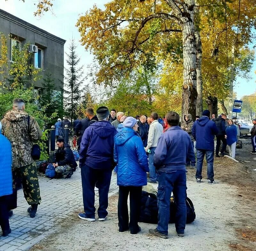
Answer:
<svg viewBox="0 0 256 251"><path fill-rule="evenodd" d="M14 169L12 171L13 190L16 190L16 182L20 179L22 183L24 197L28 205L40 204L40 188L38 183L36 163Z"/></svg>

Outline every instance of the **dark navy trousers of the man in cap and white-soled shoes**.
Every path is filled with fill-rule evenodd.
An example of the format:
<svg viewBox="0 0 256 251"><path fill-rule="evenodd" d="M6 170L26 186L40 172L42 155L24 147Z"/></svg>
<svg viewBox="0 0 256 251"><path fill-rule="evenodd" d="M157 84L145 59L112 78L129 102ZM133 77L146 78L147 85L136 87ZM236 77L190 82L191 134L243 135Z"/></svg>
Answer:
<svg viewBox="0 0 256 251"><path fill-rule="evenodd" d="M81 167L84 212L88 218L95 218L95 192L94 187L99 188L99 218L108 215L108 191L111 181L112 170L93 169L86 165Z"/></svg>

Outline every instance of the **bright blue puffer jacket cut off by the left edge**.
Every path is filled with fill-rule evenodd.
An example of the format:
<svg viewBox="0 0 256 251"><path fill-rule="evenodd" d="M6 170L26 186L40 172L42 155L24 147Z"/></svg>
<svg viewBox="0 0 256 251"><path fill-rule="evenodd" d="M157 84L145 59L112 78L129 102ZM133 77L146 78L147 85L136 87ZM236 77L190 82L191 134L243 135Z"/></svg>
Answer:
<svg viewBox="0 0 256 251"><path fill-rule="evenodd" d="M10 141L0 134L0 196L12 194L12 147Z"/></svg>

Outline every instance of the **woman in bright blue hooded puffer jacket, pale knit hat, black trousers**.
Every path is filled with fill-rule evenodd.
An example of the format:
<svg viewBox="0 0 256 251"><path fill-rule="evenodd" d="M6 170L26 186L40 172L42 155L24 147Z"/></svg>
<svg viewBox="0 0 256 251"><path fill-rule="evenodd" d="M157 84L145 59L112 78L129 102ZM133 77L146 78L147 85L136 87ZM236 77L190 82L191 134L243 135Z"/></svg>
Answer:
<svg viewBox="0 0 256 251"><path fill-rule="evenodd" d="M117 163L118 226L119 232L130 228L131 234L138 233L142 186L147 185L148 158L140 136L138 124L133 117L127 117L124 128L115 136L114 160ZM130 192L130 223L127 199Z"/></svg>

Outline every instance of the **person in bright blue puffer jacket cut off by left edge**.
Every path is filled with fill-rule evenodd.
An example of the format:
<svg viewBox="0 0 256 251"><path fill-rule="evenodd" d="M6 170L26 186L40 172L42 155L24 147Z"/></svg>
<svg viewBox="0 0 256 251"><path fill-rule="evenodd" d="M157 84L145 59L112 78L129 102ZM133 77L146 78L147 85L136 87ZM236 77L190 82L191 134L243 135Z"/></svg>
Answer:
<svg viewBox="0 0 256 251"><path fill-rule="evenodd" d="M1 134L0 122L0 226L3 236L10 232L8 214L8 195L12 194L12 147L10 141Z"/></svg>

